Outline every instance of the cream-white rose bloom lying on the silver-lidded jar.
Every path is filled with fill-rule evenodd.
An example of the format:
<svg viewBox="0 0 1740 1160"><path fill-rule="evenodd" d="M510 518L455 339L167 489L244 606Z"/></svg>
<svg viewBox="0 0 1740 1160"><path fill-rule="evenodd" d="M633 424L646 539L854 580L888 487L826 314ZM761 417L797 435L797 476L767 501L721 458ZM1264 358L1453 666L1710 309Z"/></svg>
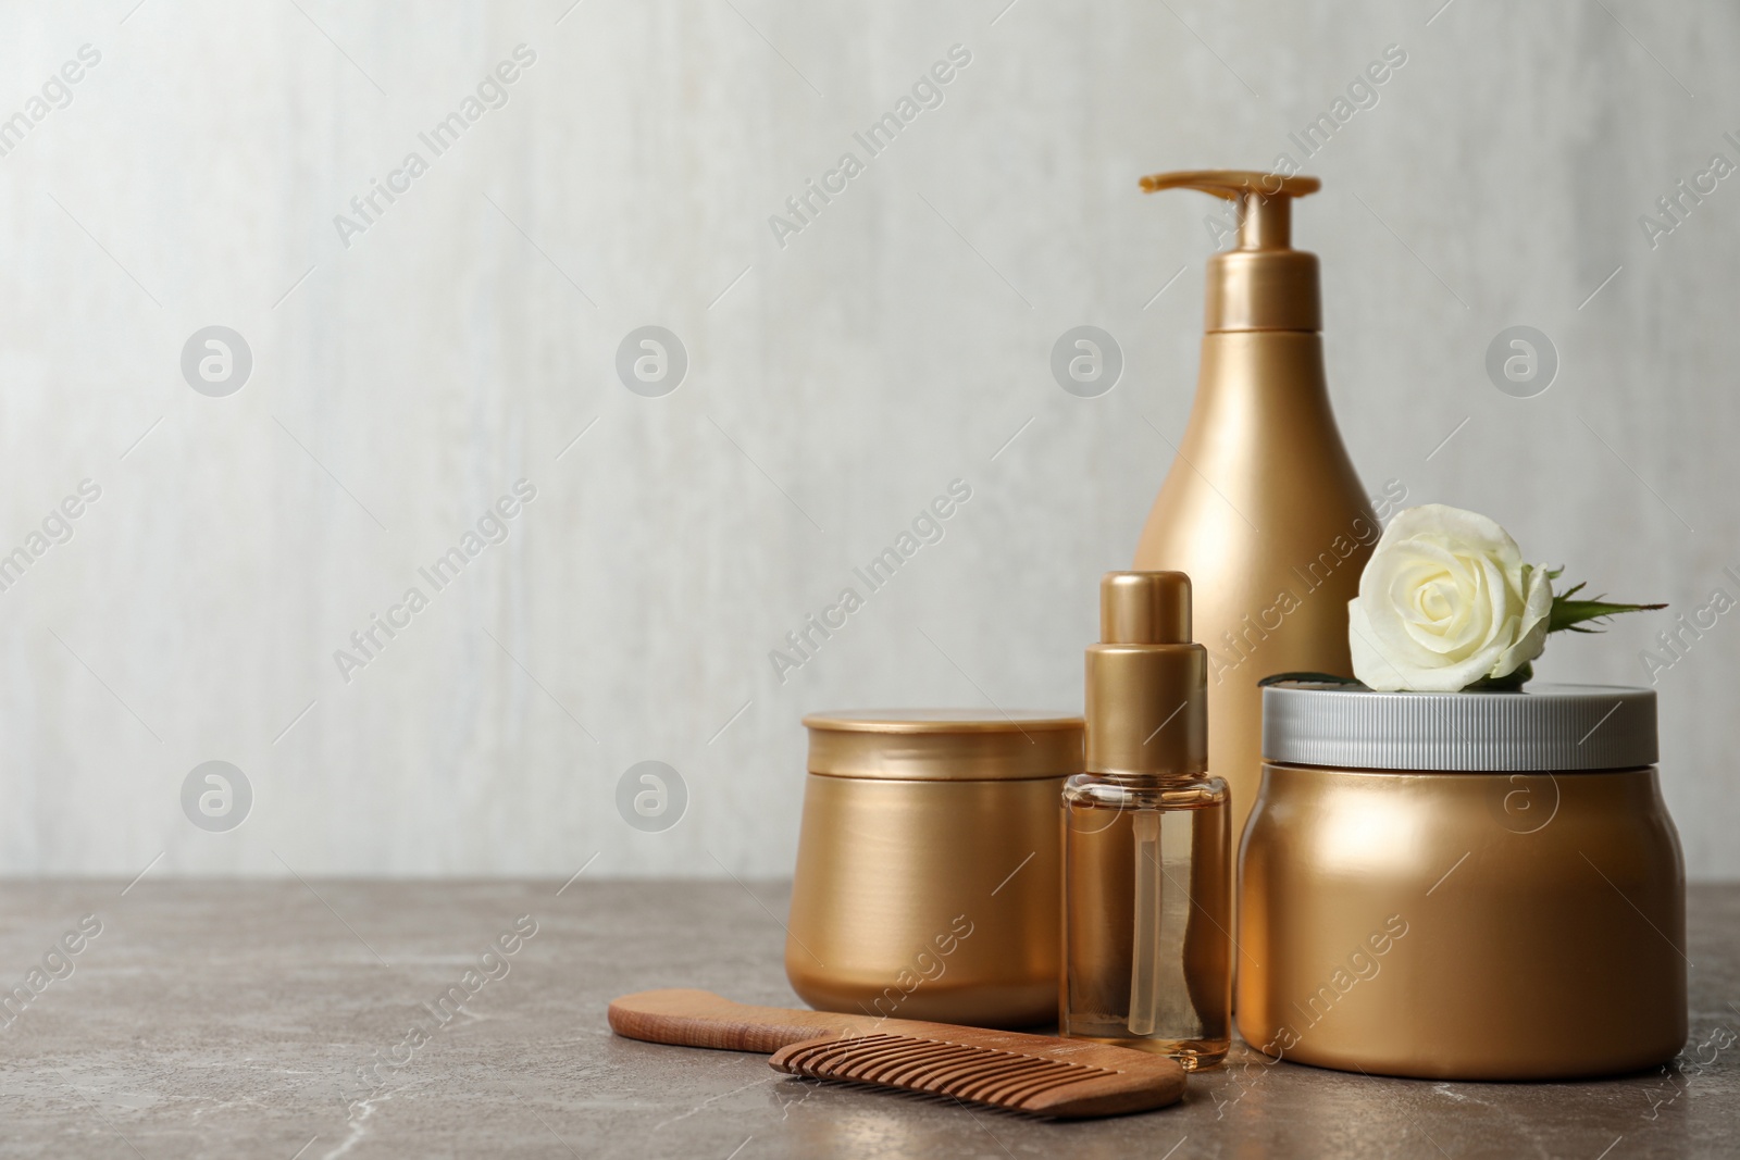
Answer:
<svg viewBox="0 0 1740 1160"><path fill-rule="evenodd" d="M1425 504L1395 518L1347 603L1354 675L1371 689L1455 692L1547 647L1552 583L1505 529Z"/></svg>

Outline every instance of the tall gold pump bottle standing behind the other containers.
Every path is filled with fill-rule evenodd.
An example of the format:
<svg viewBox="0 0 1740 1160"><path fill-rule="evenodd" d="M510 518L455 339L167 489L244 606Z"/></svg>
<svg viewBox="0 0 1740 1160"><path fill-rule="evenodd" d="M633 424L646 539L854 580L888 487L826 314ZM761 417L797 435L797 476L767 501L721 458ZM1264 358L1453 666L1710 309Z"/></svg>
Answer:
<svg viewBox="0 0 1740 1160"><path fill-rule="evenodd" d="M1213 769L1234 835L1262 776L1274 673L1352 677L1347 602L1382 527L1347 457L1322 370L1317 256L1291 249L1293 198L1315 177L1244 170L1143 177L1239 203L1239 243L1208 263L1202 365L1178 457L1136 546L1138 569L1195 584L1208 647Z"/></svg>

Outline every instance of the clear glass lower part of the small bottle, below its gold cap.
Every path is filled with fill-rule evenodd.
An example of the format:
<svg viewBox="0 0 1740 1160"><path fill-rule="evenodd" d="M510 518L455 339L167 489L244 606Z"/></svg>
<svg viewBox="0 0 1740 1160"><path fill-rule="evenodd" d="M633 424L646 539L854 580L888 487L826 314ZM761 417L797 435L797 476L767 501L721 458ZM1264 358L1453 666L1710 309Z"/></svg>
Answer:
<svg viewBox="0 0 1740 1160"><path fill-rule="evenodd" d="M1220 777L1063 788L1061 1031L1187 1071L1232 1043L1232 809Z"/></svg>

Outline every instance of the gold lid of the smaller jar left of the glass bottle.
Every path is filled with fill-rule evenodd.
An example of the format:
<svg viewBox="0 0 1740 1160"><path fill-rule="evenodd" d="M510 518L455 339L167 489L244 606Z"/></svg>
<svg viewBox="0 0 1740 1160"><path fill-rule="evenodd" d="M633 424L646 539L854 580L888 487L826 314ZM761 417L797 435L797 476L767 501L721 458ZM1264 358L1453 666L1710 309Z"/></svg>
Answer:
<svg viewBox="0 0 1740 1160"><path fill-rule="evenodd" d="M898 781L1020 781L1082 772L1082 718L1009 710L811 713L809 772Z"/></svg>

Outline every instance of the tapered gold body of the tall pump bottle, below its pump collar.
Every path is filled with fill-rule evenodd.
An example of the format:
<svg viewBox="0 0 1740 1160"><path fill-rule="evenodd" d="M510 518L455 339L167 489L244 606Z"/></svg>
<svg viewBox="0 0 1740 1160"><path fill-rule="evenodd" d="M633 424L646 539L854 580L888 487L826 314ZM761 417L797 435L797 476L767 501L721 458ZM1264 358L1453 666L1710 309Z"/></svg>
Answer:
<svg viewBox="0 0 1740 1160"><path fill-rule="evenodd" d="M1209 652L1209 769L1244 833L1262 777L1272 673L1352 677L1347 602L1382 527L1329 409L1322 336L1209 330L1190 424L1136 548L1188 572Z"/></svg>

